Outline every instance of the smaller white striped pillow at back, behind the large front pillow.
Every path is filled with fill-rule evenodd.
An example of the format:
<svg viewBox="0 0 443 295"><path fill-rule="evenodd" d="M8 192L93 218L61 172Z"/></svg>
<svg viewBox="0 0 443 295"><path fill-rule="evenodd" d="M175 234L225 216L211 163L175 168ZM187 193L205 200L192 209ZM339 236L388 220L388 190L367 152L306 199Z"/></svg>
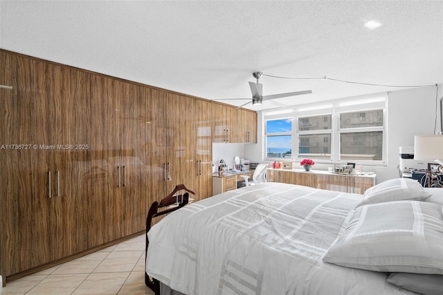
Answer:
<svg viewBox="0 0 443 295"><path fill-rule="evenodd" d="M431 196L415 179L395 178L383 181L365 191L365 195L358 206L374 203L401 201L412 199L422 201Z"/></svg>

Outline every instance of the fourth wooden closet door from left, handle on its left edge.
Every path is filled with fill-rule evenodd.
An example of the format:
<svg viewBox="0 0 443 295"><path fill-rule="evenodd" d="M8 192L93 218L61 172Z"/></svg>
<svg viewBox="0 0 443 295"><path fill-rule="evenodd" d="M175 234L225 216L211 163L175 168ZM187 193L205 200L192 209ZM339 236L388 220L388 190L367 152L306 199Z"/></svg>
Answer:
<svg viewBox="0 0 443 295"><path fill-rule="evenodd" d="M124 84L120 112L120 165L123 166L123 184L120 187L120 224L122 234L131 235L146 227L147 202L150 181L147 154L147 132L152 126L152 97L149 89L137 84ZM154 123L154 125L156 125ZM157 179L162 173L158 172Z"/></svg>

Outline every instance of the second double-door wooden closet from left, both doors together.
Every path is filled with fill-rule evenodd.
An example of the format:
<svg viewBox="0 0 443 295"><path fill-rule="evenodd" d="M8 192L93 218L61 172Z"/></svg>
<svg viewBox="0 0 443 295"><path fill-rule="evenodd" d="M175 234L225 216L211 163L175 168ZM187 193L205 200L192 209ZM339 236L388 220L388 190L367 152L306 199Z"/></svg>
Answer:
<svg viewBox="0 0 443 295"><path fill-rule="evenodd" d="M143 230L141 209L147 208L146 158L147 98L141 87L102 75L92 75L91 163L85 175L104 178L91 183L87 195L98 195L91 205L89 246L123 238ZM100 173L101 172L101 173ZM86 211L91 209L85 209ZM94 234L95 232L95 234Z"/></svg>

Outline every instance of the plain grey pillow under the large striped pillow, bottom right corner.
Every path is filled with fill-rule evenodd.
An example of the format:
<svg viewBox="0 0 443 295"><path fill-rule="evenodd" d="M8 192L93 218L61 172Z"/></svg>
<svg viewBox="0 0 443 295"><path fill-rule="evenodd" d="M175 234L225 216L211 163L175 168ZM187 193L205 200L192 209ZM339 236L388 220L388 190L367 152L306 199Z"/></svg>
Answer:
<svg viewBox="0 0 443 295"><path fill-rule="evenodd" d="M443 276L440 274L392 273L387 281L402 289L423 295L442 295Z"/></svg>

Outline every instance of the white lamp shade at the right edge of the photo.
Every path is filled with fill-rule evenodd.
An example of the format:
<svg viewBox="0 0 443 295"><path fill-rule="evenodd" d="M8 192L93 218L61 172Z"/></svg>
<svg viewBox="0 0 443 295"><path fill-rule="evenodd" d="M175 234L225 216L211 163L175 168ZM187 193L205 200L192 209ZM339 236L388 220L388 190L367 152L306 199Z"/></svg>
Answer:
<svg viewBox="0 0 443 295"><path fill-rule="evenodd" d="M414 159L435 161L443 159L443 135L416 135L414 137Z"/></svg>

